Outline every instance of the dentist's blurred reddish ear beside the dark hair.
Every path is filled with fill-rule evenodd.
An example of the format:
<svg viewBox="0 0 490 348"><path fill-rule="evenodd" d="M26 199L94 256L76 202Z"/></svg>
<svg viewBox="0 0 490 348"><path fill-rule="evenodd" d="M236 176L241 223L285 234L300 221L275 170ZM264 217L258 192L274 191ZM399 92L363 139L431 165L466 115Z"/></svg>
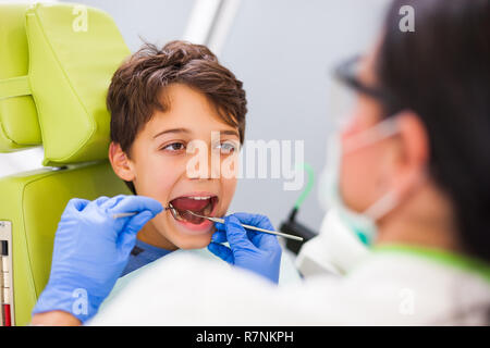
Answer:
<svg viewBox="0 0 490 348"><path fill-rule="evenodd" d="M399 195L409 195L426 179L429 164L429 136L420 117L412 111L397 115L400 147L395 156L395 185Z"/></svg>

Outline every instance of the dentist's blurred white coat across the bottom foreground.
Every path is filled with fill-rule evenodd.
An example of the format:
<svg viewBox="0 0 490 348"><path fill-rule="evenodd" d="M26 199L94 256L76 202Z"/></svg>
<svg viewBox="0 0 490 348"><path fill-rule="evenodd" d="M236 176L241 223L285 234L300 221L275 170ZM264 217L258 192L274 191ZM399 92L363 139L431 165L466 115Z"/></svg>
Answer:
<svg viewBox="0 0 490 348"><path fill-rule="evenodd" d="M224 262L175 254L154 262L89 324L488 324L489 284L488 269L403 249L371 252L342 277L279 287Z"/></svg>

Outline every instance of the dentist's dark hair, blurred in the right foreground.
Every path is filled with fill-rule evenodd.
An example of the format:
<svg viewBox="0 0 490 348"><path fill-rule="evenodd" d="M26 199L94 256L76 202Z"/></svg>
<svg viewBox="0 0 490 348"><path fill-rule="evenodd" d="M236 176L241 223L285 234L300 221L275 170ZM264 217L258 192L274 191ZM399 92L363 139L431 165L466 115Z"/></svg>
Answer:
<svg viewBox="0 0 490 348"><path fill-rule="evenodd" d="M403 5L415 32L402 32ZM431 177L452 200L468 254L490 261L490 1L395 0L376 72L395 96L385 115L418 114L430 144Z"/></svg>

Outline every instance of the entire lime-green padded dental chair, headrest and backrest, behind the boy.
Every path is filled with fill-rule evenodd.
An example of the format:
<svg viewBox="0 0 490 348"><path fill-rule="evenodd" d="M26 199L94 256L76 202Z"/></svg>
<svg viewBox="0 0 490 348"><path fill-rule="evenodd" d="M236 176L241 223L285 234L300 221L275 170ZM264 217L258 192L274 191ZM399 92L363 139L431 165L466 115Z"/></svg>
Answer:
<svg viewBox="0 0 490 348"><path fill-rule="evenodd" d="M0 178L2 325L29 323L68 201L130 194L107 160L106 108L128 54L99 10L0 4L0 152L42 146L46 166Z"/></svg>

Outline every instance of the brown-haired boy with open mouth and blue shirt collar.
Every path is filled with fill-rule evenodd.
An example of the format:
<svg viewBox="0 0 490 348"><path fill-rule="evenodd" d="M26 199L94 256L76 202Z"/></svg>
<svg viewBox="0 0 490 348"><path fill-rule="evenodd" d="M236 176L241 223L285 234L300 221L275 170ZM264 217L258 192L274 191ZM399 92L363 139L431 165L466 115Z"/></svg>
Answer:
<svg viewBox="0 0 490 348"><path fill-rule="evenodd" d="M213 154L219 166L233 163L245 133L242 82L205 46L172 41L159 50L147 44L115 72L107 104L115 174L133 194L175 209L142 228L122 275L172 250L208 246L213 224L186 211L224 215L236 177L215 175L216 167L206 163L212 161L198 163L207 175L193 176L188 163L196 154L189 147L199 141L209 149L205 159ZM219 132L218 144L213 132Z"/></svg>

